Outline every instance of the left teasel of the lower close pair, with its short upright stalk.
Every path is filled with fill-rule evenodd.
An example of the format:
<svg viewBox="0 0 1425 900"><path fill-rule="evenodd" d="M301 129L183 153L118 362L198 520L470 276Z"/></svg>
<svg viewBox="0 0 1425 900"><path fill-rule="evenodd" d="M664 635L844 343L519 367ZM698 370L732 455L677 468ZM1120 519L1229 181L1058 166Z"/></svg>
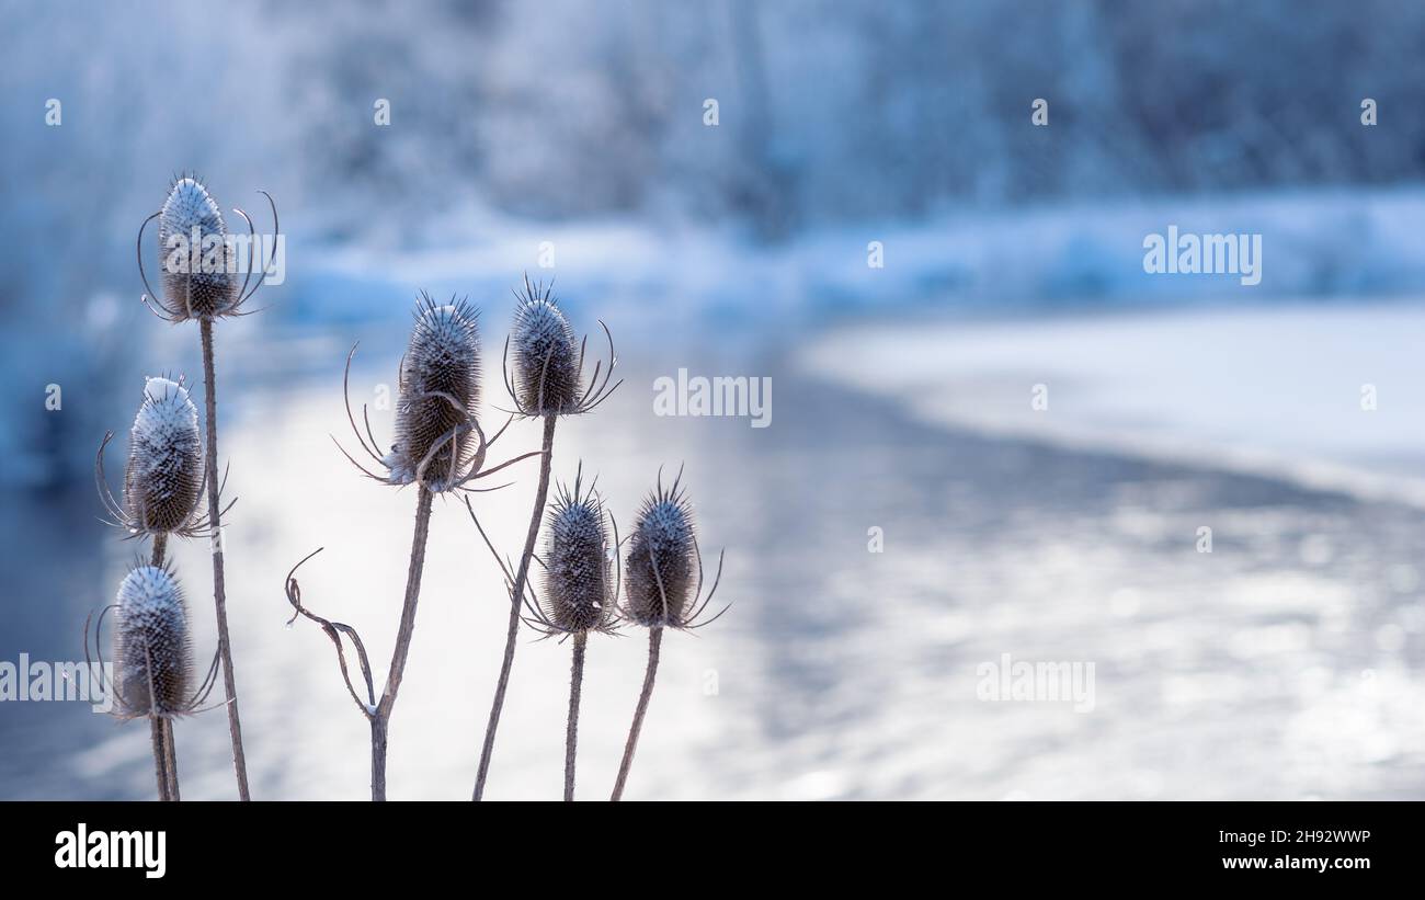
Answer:
<svg viewBox="0 0 1425 900"><path fill-rule="evenodd" d="M584 487L580 464L573 487L556 490L554 503L546 523L544 557L534 557L544 568L544 598L533 588L524 595L524 624L546 638L570 638L573 659L569 676L569 719L564 729L564 800L574 799L574 759L579 749L579 702L584 682L584 654L590 632L614 634L618 624L618 555L610 548L608 528L613 527L613 547L618 545L618 525L606 513L596 483ZM500 560L480 520L470 508L486 547L504 572L506 587L513 590L514 577Z"/></svg>

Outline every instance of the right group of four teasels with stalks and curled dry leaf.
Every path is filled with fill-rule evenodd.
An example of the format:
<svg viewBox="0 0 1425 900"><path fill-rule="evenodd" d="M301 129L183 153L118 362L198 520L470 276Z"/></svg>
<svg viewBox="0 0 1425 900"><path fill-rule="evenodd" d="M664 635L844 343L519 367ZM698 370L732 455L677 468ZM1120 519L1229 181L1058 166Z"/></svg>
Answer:
<svg viewBox="0 0 1425 900"><path fill-rule="evenodd" d="M361 451L366 454L369 461L358 461L358 457L345 449L342 449L342 454L366 477L383 484L415 484L420 496L416 510L416 534L406 577L406 602L396 635L396 649L386 676L386 688L379 701L376 699L370 661L356 629L345 622L318 615L302 602L296 570L322 548L304 557L286 577L286 598L294 608L292 621L305 617L316 622L332 641L348 694L370 722L373 800L386 799L389 722L415 629L420 571L425 565L425 544L430 527L430 507L436 494L455 494L457 491L462 494L476 530L504 577L510 598L504 652L476 773L473 792L476 800L482 799L487 782L496 731L504 708L522 624L539 631L544 638L559 637L571 642L569 718L566 722L566 800L574 797L579 708L589 635L613 632L618 624L626 621L650 628L653 635L650 669L617 779L618 786L614 790L613 799L618 799L633 760L637 733L648 706L661 629L664 627L700 627L698 615L707 608L707 602L711 601L712 591L717 588L714 580L712 591L700 601L701 560L697 555L697 544L693 537L691 507L677 483L671 490L664 490L660 483L660 487L646 501L638 525L628 538L627 567L630 577L626 604L618 601L621 574L610 572L610 568L621 570L621 567L610 567L608 564L608 557L618 560L621 550L617 525L614 525L610 548L606 528L613 524L613 517L606 514L603 500L593 484L589 486L587 491L584 490L581 467L573 487L563 487L559 500L549 510L549 541L544 557L542 558L536 553L540 524L544 521L550 494L556 424L563 416L593 412L613 394L621 382L611 383L617 357L607 326L600 322L608 340L607 366L604 360L596 362L586 380L583 373L587 339L576 340L564 313L551 296L551 291L542 285L530 285L526 279L523 292L517 291L516 299L514 323L510 338L504 342L502 359L503 383L513 410L509 410L510 417L489 440L486 440L476 416L479 400L477 313L465 300L452 299L449 303L437 305L429 296L422 295L416 303L416 323L398 373L396 436L389 450L383 450L376 441L368 422L366 407L362 407L362 427L356 423L349 399L346 400L348 423ZM352 355L355 349L352 347ZM343 375L343 394L348 396L352 355L348 355L346 375ZM487 449L500 439L516 417L542 423L540 450L516 456L499 466L486 467ZM338 447L341 447L339 443ZM499 490L499 487L480 488L470 484L536 456L540 457L539 481L524 547L516 564L502 557L494 548L476 516L470 497L484 490ZM534 564L544 570L543 598L530 584ZM697 568L695 582L694 568ZM348 644L351 652L355 654L355 666L348 652ZM359 674L359 679L353 676L353 668Z"/></svg>

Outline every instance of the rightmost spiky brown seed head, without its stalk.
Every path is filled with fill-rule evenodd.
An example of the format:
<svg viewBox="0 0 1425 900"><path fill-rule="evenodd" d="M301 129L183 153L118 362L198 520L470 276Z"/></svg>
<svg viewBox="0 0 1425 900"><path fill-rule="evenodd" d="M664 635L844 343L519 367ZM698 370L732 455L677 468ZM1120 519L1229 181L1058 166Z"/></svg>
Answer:
<svg viewBox="0 0 1425 900"><path fill-rule="evenodd" d="M693 615L697 547L693 507L674 481L643 501L624 562L628 617L647 628L683 628Z"/></svg>

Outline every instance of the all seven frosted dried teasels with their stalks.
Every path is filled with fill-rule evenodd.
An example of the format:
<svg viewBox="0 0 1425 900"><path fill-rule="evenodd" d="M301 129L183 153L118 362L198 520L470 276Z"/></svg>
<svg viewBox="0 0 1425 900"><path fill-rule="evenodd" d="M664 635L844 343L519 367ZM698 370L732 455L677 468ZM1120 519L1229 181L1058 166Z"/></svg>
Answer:
<svg viewBox="0 0 1425 900"><path fill-rule="evenodd" d="M265 192L262 194L266 195ZM271 199L268 195L269 204ZM255 238L251 234L254 232L252 219L241 209L235 209L235 212L247 221L249 236ZM275 232L275 205L272 205L272 216ZM171 241L174 235L187 238L191 234L201 236L204 241L209 238L227 239L222 215L197 178L184 177L175 179L164 208L148 216L144 221L144 228L155 218L160 221L158 232L162 251L172 249L174 245ZM241 310L241 306L261 286L265 276L259 276L256 285L252 285L249 289L251 265L248 266L248 276L238 286L231 268L224 269L221 273L208 271L188 272L187 269L178 272L171 271L165 262L162 283L167 291L164 295L160 295L152 291L147 275L142 273L144 228L140 229L138 235L140 273L144 278L144 286L148 289L148 293L142 298L144 303L155 315L168 322L178 323L197 319L200 325L204 365L205 453L200 456L195 447L197 416L191 402L188 402L187 390L181 387L181 379L175 386L175 394L178 396L171 399L171 402L165 399L165 403L170 403L171 409L158 404L151 394L145 396L145 406L140 410L140 419L135 419L131 439L130 467L125 476L123 503L117 501L108 493L103 477L104 446L107 446L113 436L105 436L104 444L100 447L97 476L101 484L101 497L105 501L110 516L115 520L115 524L130 533L130 537L152 537L150 565L131 571L130 578L125 578L124 587L120 590L120 601L105 608L105 612L108 609L118 609L115 618L127 622L127 625L121 624L118 627L120 634L115 634L115 664L127 666L127 669L121 668L115 675L115 691L120 692L124 718L138 718L141 715L150 718L158 796L160 799L177 800L178 776L172 721L175 716L201 709L201 703L215 685L215 675L221 668L227 695L224 706L228 712L238 796L247 800L249 799L247 760L242 748L242 728L238 718L221 541L221 517L227 508L221 507L222 486L217 474L218 434L212 326L217 319L225 316L248 315ZM224 244L224 246L227 245ZM224 256L224 262L227 262L227 256ZM626 540L618 538L617 524L613 521L613 516L606 511L603 497L597 493L594 484L590 484L587 490L584 488L581 466L573 487L563 486L557 501L551 508L547 508L554 429L559 419L593 412L613 394L621 382L610 384L616 366L616 355L613 336L603 322L600 322L600 326L608 339L607 367L603 360L598 360L593 367L593 375L586 382L584 352L587 349L587 338L576 342L574 332L569 326L557 300L553 299L550 289L540 285L530 285L526 278L523 293L517 291L516 299L514 325L510 338L506 339L502 360L503 383L514 409L510 412L509 420L506 420L493 437L486 439L477 417L480 394L479 313L465 300L452 299L449 303L436 303L428 295L422 295L418 302L415 310L416 323L398 373L396 429L389 450L382 450L376 441L365 406L362 407L365 433L356 426L348 390L351 362L356 352L355 346L346 357L343 394L348 396L348 422L362 451L375 463L373 469L376 471L372 471L370 463L358 463L345 449L342 449L342 454L372 480L398 487L415 486L418 493L400 621L390 666L379 698L368 652L356 629L343 622L326 619L302 604L301 588L295 577L296 570L321 553L322 548L312 551L294 565L288 572L285 585L288 601L294 608L291 621L295 621L299 615L305 617L316 622L328 635L336 648L338 665L346 689L356 708L370 725L370 790L373 800L386 799L386 755L390 716L395 709L415 632L416 608L420 598L420 578L425 568L426 543L430 534L430 514L433 500L437 494L463 497L480 538L490 550L504 575L504 585L510 600L504 652L482 743L473 790L475 800L482 799L484 793L522 624L540 632L543 638L557 637L560 641L569 639L571 644L569 716L566 722L566 800L574 797L579 709L589 635L594 632L613 634L626 624L648 629L648 661L643 691L634 709L633 725L611 795L611 799L617 800L624 792L638 735L653 694L663 631L665 628L698 628L710 624L722 614L718 612L707 621L700 621L712 600L712 594L717 591L722 564L720 557L717 577L704 598L703 560L694 534L691 506L680 487L681 473L670 488L664 488L660 473L657 487L644 500L634 531ZM600 373L603 377L600 377ZM152 384L154 382L151 380L150 383ZM174 386L172 382L162 380L162 383ZM181 427L172 427L164 419L157 420L164 424L152 426L154 417L150 416L147 420L150 424L145 426L148 430L141 431L141 424L145 422L144 413L150 409L151 403L161 412L167 410ZM187 419L184 417L185 410L191 413ZM516 417L539 420L543 424L540 450L516 456L500 464L486 466L487 450ZM154 449L155 443L158 444L157 450ZM494 544L476 516L470 494L507 487L507 484L502 484L493 488L483 488L473 483L536 456L540 457L539 483L534 491L534 503L523 551L520 553L519 562L514 564L507 558L502 558L500 553L494 548ZM147 488L150 493L145 494L144 473L150 470L161 473L161 477L154 476L150 478L154 484ZM207 514L201 517L197 513L201 497L195 490L198 484L194 474L195 470L201 470L201 487L205 488L208 501ZM177 478L177 490L172 488L174 478ZM150 497L157 497L158 500L151 500ZM170 508L175 504L184 508ZM154 510L158 507L162 508L155 514ZM164 510L167 510L167 516ZM542 557L536 553L536 544L546 511L549 513L546 528L547 547ZM608 525L613 527L611 548L607 531ZM181 537L207 535L212 544L214 611L218 625L218 649L208 676L191 694L188 692L191 688L191 662L187 637L187 607L177 581L172 580L171 567L165 560L170 534ZM627 555L624 555L626 545ZM610 560L614 561L614 565L610 565ZM533 564L539 564L544 572L543 598L540 598L530 584ZM620 600L621 592L626 592L623 601ZM725 612L725 608L722 611ZM98 627L103 627L103 614L100 615ZM144 631L144 627L148 631ZM160 648L161 652L151 652L150 642ZM358 689L358 684L353 681L346 642L355 651L361 689ZM172 647L178 649L168 652L168 648ZM95 628L95 649L98 649L98 628ZM123 658L120 658L121 654ZM88 622L86 622L86 655L88 655ZM147 698L147 705L131 702L133 698L125 698L120 691L121 684L130 686L128 694L133 698ZM135 684L142 691L137 691L134 688Z"/></svg>

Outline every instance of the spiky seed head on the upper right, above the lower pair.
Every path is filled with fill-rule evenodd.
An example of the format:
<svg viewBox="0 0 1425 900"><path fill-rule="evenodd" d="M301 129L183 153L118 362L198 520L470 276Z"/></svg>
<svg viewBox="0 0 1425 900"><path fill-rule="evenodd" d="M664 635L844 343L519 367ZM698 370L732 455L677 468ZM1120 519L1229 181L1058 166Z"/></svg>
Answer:
<svg viewBox="0 0 1425 900"><path fill-rule="evenodd" d="M579 340L549 288L524 282L510 329L514 392L532 416L573 413L579 407Z"/></svg>

